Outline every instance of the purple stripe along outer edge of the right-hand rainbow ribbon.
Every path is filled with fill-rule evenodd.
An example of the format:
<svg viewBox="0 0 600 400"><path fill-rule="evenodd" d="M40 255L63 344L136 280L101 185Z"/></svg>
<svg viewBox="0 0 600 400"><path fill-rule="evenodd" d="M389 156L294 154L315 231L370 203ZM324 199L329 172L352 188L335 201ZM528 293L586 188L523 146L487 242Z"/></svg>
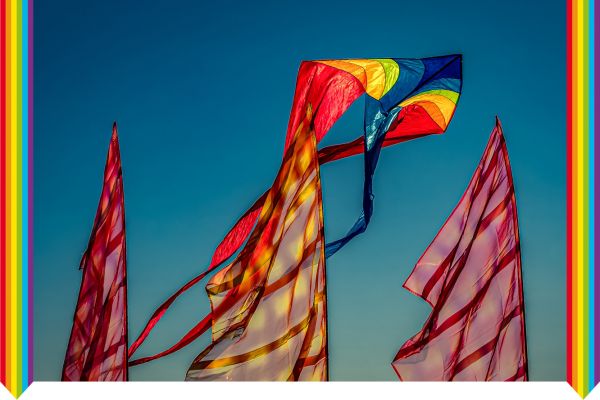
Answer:
<svg viewBox="0 0 600 400"><path fill-rule="evenodd" d="M599 38L600 38L600 7L599 0L591 0L594 2L594 32L591 33L594 36L594 70L590 71L590 73L594 74L594 88L590 90L590 95L594 96L594 126L591 127L594 132L594 180L597 182L598 177L600 177L600 160L598 159L598 155L600 155L600 137L598 137L598 116L600 116L600 91L598 90L598 80L600 76L598 74L598 65L600 65L600 51L598 48ZM598 269L598 260L600 255L600 221L598 221L598 217L600 214L600 185L597 185L594 182L594 260L593 260L593 268L594 268L594 344L595 351L593 354L594 357L594 385L600 381L600 352L599 352L599 344L600 344L600 270Z"/></svg>

